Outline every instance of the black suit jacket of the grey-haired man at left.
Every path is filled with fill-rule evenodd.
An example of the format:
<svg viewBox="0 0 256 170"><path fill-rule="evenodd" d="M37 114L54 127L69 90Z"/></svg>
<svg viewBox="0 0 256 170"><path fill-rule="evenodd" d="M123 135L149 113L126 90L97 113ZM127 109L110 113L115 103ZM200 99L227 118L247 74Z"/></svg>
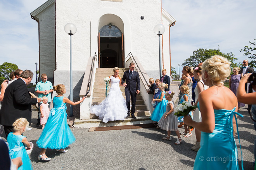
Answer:
<svg viewBox="0 0 256 170"><path fill-rule="evenodd" d="M31 98L24 81L21 78L15 80L5 89L0 110L0 124L12 126L21 117L31 123L31 104L36 102L37 99Z"/></svg>

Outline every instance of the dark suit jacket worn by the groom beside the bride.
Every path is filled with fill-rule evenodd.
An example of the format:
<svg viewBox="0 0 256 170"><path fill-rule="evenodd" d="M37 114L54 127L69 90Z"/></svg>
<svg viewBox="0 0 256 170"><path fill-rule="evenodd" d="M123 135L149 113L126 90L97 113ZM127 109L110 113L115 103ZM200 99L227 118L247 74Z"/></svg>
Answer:
<svg viewBox="0 0 256 170"><path fill-rule="evenodd" d="M138 72L133 70L133 74L130 80L129 70L125 71L122 78L122 83L127 84L127 86L125 87L125 92L127 92L128 89L130 89L131 93L136 93L137 90L140 90L140 77L138 75Z"/></svg>

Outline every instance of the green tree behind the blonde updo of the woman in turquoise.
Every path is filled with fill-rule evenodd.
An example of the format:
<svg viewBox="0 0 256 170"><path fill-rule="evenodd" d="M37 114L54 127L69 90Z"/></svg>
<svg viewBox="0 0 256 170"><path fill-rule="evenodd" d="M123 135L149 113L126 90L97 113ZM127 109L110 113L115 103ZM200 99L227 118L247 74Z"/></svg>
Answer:
<svg viewBox="0 0 256 170"><path fill-rule="evenodd" d="M235 55L233 53L222 53L220 49L197 49L196 51L193 51L193 55L190 56L188 59L185 60L184 63L182 63L182 66L193 66L196 67L199 63L204 62L206 59L211 58L211 56L219 55L223 56L228 59L228 61L231 62L230 68L233 69L234 67L238 66L239 64L234 63L237 58L235 58Z"/></svg>

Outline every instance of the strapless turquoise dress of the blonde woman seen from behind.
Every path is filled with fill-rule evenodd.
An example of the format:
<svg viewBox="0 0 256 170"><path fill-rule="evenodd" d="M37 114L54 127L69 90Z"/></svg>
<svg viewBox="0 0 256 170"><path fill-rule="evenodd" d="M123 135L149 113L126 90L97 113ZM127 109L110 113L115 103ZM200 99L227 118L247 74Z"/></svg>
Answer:
<svg viewBox="0 0 256 170"><path fill-rule="evenodd" d="M198 109L199 103L197 104ZM238 170L237 146L233 136L233 116L241 114L232 110L215 110L215 128L213 133L201 132L201 148L195 157L194 170ZM237 124L237 118L235 116ZM237 136L239 132L237 126ZM239 139L240 144L240 139ZM241 145L240 145L241 149ZM242 150L241 150L242 155ZM242 160L242 158L241 158ZM243 162L242 162L242 169Z"/></svg>

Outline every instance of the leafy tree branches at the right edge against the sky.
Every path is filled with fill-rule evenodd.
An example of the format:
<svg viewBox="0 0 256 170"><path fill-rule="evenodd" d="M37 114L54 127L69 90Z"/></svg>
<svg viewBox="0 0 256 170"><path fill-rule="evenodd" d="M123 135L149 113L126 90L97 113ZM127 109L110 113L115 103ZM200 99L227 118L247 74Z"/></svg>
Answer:
<svg viewBox="0 0 256 170"><path fill-rule="evenodd" d="M254 39L256 41L256 39ZM249 62L249 67L256 67L256 42L249 41L250 46L244 46L244 49L241 49L240 52L244 52L244 56L248 56L251 61Z"/></svg>

